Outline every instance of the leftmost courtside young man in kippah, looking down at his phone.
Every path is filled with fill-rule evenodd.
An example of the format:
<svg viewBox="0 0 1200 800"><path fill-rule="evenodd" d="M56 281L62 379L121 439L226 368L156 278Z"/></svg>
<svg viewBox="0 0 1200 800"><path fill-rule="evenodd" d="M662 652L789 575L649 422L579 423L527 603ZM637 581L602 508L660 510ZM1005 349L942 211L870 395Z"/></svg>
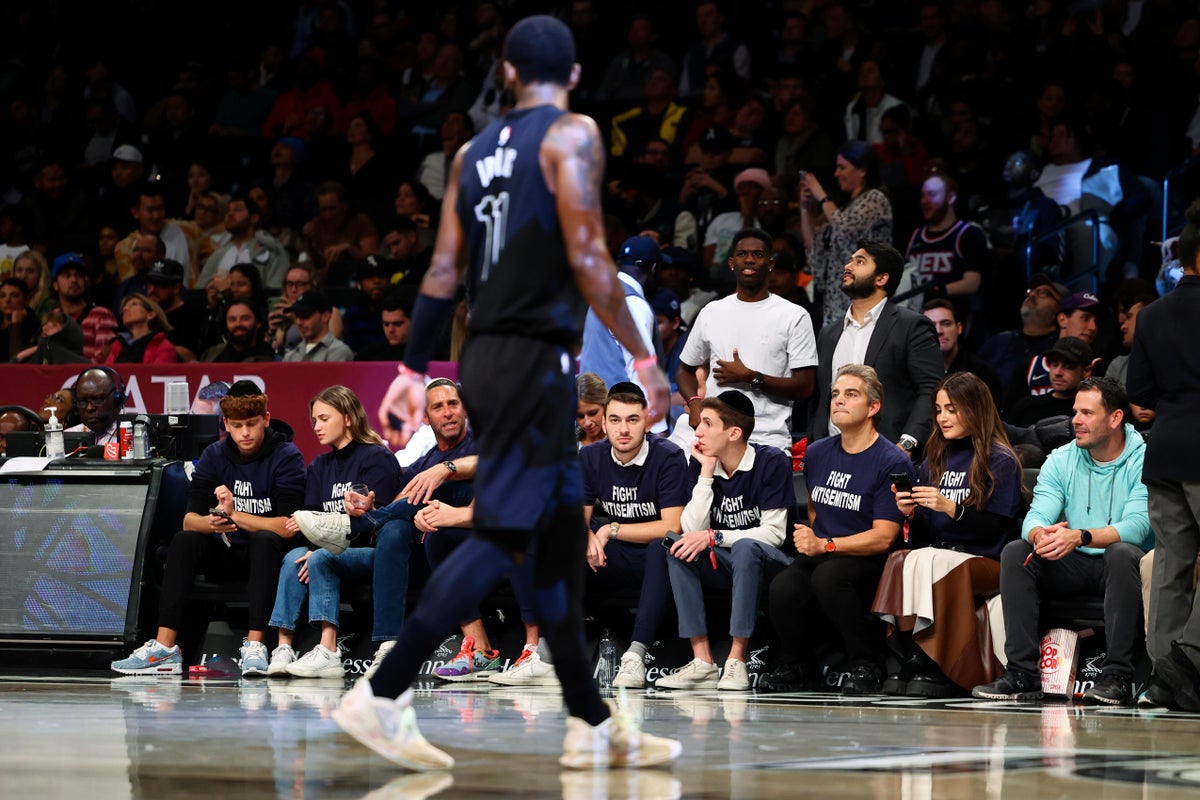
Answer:
<svg viewBox="0 0 1200 800"><path fill-rule="evenodd" d="M250 631L241 645L241 674L265 675L266 633L280 564L295 546L284 523L304 505L304 456L292 429L271 427L266 395L239 380L221 398L228 433L206 447L196 464L187 494L184 529L170 540L158 632L112 668L126 675L179 674L184 656L175 644L196 573L205 567L248 573ZM210 512L211 510L211 512Z"/></svg>

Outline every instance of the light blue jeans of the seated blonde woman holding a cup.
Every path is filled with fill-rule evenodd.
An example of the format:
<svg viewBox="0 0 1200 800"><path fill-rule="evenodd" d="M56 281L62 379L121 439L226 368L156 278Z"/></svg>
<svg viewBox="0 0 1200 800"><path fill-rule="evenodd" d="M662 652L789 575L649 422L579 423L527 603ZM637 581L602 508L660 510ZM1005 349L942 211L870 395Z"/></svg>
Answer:
<svg viewBox="0 0 1200 800"><path fill-rule="evenodd" d="M373 547L352 547L334 555L329 551L312 551L308 557L308 583L300 583L296 559L308 549L298 547L283 559L280 569L280 585L275 593L275 610L271 627L294 631L300 619L300 607L308 597L308 621L337 625L337 612L342 602L342 582L361 581L371 576L374 564Z"/></svg>

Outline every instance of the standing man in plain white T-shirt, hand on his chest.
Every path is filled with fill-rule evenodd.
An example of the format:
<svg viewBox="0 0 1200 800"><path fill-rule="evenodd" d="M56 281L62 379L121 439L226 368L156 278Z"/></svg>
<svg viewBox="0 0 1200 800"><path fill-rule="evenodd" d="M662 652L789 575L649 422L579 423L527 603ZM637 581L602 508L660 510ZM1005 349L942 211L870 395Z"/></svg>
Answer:
<svg viewBox="0 0 1200 800"><path fill-rule="evenodd" d="M678 381L691 428L698 422L701 399L736 389L754 403L750 441L791 455L792 403L812 396L817 345L809 312L767 289L775 263L772 243L770 234L757 228L733 236L727 260L737 291L708 303L696 317L679 356ZM707 374L703 386L701 369ZM689 440L688 428L680 419L672 439Z"/></svg>

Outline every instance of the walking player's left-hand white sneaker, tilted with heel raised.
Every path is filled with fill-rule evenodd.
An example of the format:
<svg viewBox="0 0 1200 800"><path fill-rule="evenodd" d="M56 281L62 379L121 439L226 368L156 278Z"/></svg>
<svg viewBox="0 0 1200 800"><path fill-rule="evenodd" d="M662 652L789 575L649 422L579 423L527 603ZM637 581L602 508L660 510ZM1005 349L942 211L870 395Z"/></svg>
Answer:
<svg viewBox="0 0 1200 800"><path fill-rule="evenodd" d="M376 697L371 681L360 678L332 716L342 730L401 766L419 772L454 766L454 758L426 741L418 729L413 690L390 700Z"/></svg>

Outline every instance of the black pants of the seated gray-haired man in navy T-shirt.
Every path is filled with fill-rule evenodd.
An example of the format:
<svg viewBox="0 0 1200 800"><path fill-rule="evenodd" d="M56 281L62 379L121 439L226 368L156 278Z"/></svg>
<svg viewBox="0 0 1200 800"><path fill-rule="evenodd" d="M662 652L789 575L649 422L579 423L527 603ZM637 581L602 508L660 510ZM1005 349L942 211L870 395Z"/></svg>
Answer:
<svg viewBox="0 0 1200 800"><path fill-rule="evenodd" d="M886 627L871 602L886 555L798 555L770 582L770 621L785 660L815 662L832 630L851 666L882 666Z"/></svg>

